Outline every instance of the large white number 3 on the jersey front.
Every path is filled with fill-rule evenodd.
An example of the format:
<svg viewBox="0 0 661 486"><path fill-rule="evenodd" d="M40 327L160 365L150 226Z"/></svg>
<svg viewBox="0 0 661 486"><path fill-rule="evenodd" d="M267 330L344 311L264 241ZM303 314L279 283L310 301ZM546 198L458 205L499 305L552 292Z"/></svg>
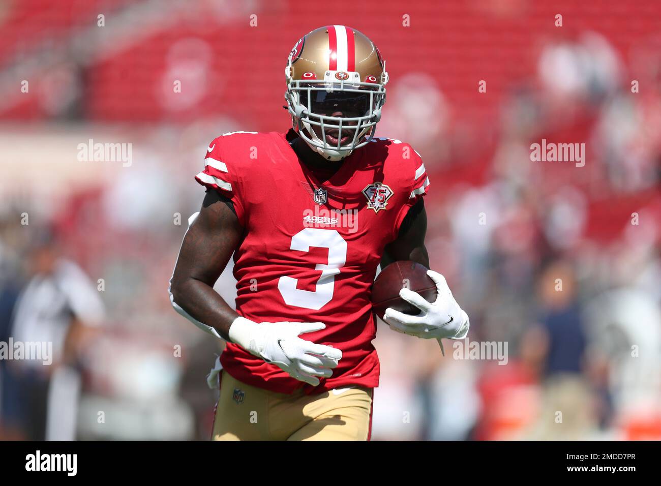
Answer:
<svg viewBox="0 0 661 486"><path fill-rule="evenodd" d="M334 229L305 228L293 235L290 249L307 252L310 247L329 249L329 263L315 266L315 270L321 270L317 288L314 292L301 290L296 288L298 280L282 276L278 280L278 290L287 305L316 311L331 302L335 276L346 263L346 241Z"/></svg>

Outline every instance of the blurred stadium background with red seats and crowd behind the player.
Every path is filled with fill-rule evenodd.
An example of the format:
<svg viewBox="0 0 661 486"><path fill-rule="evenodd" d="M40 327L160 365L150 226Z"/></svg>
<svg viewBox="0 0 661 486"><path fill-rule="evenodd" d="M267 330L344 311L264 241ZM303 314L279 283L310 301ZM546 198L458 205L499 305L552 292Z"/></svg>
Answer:
<svg viewBox="0 0 661 486"><path fill-rule="evenodd" d="M221 343L167 296L204 194L193 177L218 134L290 126L286 56L325 24L379 46L391 81L377 136L425 161L432 268L471 316L470 341L508 344L504 365L447 345L442 358L381 323L373 438L661 438L661 3L9 0L1 339L40 228L104 281L77 378L48 367L49 419L71 425L51 437L208 438ZM79 161L89 139L132 143L132 164ZM586 143L585 166L532 162L541 139ZM217 290L231 300L229 271ZM0 417L2 438L26 436Z"/></svg>

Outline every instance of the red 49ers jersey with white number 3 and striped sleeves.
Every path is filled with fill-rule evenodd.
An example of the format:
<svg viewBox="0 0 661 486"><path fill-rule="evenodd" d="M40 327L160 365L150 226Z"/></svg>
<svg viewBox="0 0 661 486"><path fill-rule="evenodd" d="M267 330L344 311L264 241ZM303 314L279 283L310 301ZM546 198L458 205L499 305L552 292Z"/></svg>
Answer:
<svg viewBox="0 0 661 486"><path fill-rule="evenodd" d="M287 134L235 132L209 144L200 184L231 198L245 237L234 253L236 309L254 322L323 322L300 335L342 350L316 387L227 343L223 368L278 393L376 387L379 358L371 285L383 249L429 184L420 155L399 140L374 139L320 183Z"/></svg>

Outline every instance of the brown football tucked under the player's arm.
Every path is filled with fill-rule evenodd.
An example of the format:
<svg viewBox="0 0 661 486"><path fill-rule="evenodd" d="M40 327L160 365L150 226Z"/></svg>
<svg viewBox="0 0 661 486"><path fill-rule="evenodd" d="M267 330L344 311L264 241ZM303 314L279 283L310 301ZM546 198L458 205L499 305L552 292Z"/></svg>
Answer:
<svg viewBox="0 0 661 486"><path fill-rule="evenodd" d="M429 302L436 301L436 284L427 275L427 270L424 265L412 261L397 261L383 268L374 281L371 293L372 307L379 319L383 319L388 307L411 315L420 312L418 307L399 296L399 291L404 287L418 292Z"/></svg>

